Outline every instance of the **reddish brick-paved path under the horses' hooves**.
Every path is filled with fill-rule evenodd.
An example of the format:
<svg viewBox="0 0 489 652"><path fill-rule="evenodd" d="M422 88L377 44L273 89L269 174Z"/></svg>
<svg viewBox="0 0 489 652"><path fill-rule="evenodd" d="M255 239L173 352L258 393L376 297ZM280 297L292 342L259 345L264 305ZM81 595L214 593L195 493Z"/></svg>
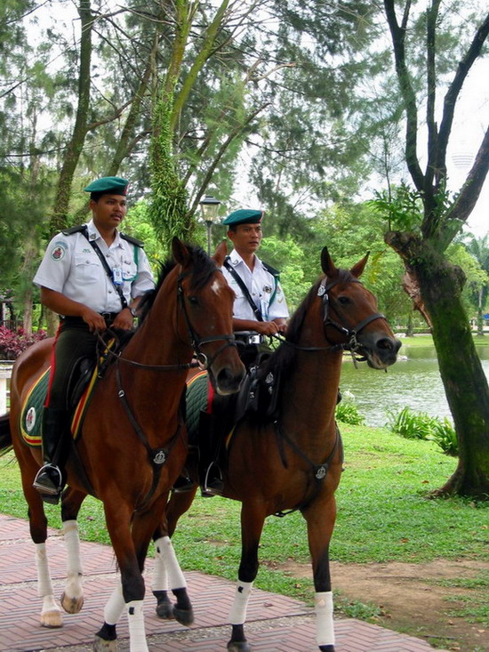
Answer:
<svg viewBox="0 0 489 652"><path fill-rule="evenodd" d="M55 592L64 584L65 550L58 530L50 530L48 553ZM41 602L36 592L34 550L28 523L0 514L0 651L88 652L103 620L103 608L116 581L112 549L82 543L85 603L81 613L64 616L62 629L40 627ZM148 559L148 576L152 571ZM151 652L220 652L229 638L228 608L234 583L203 573L187 573L196 623L190 628L159 620L153 596L146 600L146 632ZM354 619L335 621L337 652L427 652L429 644L377 625ZM120 652L127 652L124 617L117 627ZM253 590L246 625L253 652L313 652L314 616L300 600ZM440 652L438 650L438 652ZM443 651L442 651L443 652Z"/></svg>

